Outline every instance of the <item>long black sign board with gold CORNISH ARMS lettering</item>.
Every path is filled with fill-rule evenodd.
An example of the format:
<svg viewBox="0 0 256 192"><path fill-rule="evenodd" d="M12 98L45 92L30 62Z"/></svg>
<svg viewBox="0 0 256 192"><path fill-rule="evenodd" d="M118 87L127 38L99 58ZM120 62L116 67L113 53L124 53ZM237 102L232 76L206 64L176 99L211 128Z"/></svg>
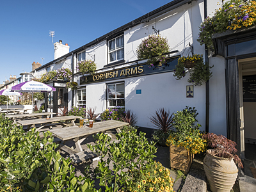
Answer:
<svg viewBox="0 0 256 192"><path fill-rule="evenodd" d="M111 81L116 79L124 79L132 76L146 76L150 74L158 74L164 72L170 72L175 69L175 66L178 64L179 57L175 56L170 58L167 61L167 65L160 68L149 68L147 63L132 65L129 67L118 68L115 70L109 70L106 72L101 72L97 74L93 74L90 76L82 76L80 77L80 84L88 84L88 83L97 83L100 81Z"/></svg>

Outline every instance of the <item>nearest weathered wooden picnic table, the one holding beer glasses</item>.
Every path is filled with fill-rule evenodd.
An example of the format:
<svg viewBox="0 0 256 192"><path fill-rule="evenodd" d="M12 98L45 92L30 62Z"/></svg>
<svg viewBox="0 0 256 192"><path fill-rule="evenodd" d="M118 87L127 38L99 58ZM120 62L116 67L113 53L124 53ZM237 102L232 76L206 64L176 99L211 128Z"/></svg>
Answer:
<svg viewBox="0 0 256 192"><path fill-rule="evenodd" d="M93 157L96 157L93 152L90 150L83 151L81 147L81 143L90 135L95 134L97 132L104 132L111 129L116 129L116 132L120 132L120 128L124 125L129 125L125 122L119 122L116 120L108 120L105 122L95 122L93 123L93 127L65 127L62 129L55 129L51 130L52 135L56 136L61 140L62 143L60 143L60 149L68 152L70 154L70 157L72 159L72 163L74 164L81 164L85 161L88 161L92 159ZM67 140L73 140L75 142L74 147L68 147L65 144L65 141Z"/></svg>

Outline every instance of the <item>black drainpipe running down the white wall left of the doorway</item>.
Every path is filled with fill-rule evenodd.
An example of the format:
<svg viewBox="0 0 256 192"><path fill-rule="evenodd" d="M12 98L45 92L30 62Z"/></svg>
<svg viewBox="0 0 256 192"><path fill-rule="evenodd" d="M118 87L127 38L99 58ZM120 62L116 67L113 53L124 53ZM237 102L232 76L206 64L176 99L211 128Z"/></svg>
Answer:
<svg viewBox="0 0 256 192"><path fill-rule="evenodd" d="M207 17L207 0L204 0L204 18L206 19L206 17ZM205 55L205 65L207 65L207 67L209 67L208 47L206 45L205 45L204 55ZM209 106L210 106L210 99L209 99L210 84L209 84L209 80L206 82L205 85L206 85L205 131L209 132Z"/></svg>

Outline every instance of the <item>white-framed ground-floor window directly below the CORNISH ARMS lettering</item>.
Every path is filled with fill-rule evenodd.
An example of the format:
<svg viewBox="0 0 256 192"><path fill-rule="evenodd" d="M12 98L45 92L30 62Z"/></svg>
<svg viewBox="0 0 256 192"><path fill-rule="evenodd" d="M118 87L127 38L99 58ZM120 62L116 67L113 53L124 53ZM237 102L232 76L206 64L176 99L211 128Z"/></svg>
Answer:
<svg viewBox="0 0 256 192"><path fill-rule="evenodd" d="M124 83L108 84L108 108L124 107Z"/></svg>

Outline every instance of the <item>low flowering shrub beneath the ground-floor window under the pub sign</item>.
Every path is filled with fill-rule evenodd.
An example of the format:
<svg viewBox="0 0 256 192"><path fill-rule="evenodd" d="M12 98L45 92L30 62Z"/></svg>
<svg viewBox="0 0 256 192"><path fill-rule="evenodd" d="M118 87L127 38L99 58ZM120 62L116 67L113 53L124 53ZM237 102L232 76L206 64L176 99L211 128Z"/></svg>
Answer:
<svg viewBox="0 0 256 192"><path fill-rule="evenodd" d="M106 120L121 120L121 114L125 113L125 108L108 108L103 113L100 114L102 121Z"/></svg>

